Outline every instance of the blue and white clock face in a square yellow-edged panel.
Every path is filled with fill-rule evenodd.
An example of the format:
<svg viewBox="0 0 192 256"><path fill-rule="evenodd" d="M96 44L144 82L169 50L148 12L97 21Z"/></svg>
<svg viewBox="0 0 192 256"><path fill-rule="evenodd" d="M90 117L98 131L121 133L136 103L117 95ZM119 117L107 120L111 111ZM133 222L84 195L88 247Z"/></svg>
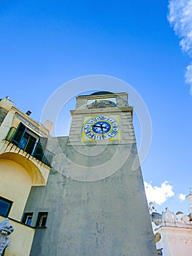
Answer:
<svg viewBox="0 0 192 256"><path fill-rule="evenodd" d="M118 117L94 116L85 118L83 127L86 140L119 140Z"/></svg>

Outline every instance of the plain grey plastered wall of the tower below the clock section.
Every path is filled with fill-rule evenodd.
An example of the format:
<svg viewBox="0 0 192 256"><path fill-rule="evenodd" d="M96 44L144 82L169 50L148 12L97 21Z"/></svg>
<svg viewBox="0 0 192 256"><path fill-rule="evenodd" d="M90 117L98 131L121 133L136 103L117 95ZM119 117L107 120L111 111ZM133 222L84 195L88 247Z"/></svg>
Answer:
<svg viewBox="0 0 192 256"><path fill-rule="evenodd" d="M101 162L110 160L117 147L108 145L94 161L80 157L80 146L75 149L66 142L59 138L64 154L77 165L96 165L99 157ZM77 181L65 176L71 166L62 162L53 143L55 168L46 187L31 189L25 209L34 212L32 225L39 211L49 212L47 227L35 233L31 256L156 255L142 173L139 167L132 170L137 146L122 147L128 157L115 173L99 181Z"/></svg>

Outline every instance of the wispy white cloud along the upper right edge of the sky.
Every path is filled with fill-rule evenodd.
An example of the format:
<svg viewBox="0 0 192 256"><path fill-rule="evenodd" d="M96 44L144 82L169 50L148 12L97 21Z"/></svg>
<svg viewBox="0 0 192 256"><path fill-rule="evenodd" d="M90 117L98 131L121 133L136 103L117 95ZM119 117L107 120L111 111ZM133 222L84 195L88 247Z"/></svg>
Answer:
<svg viewBox="0 0 192 256"><path fill-rule="evenodd" d="M192 0L170 0L168 20L180 37L182 50L192 56ZM185 83L191 86L192 94L192 64L187 67Z"/></svg>

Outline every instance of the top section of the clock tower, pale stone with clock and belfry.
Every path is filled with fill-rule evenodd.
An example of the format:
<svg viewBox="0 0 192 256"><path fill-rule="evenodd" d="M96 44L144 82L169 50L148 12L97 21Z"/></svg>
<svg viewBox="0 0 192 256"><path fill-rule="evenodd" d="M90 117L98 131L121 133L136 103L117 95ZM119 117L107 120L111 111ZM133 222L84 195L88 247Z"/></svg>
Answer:
<svg viewBox="0 0 192 256"><path fill-rule="evenodd" d="M128 94L107 91L77 97L69 141L75 146L135 143ZM80 136L79 136L80 135Z"/></svg>

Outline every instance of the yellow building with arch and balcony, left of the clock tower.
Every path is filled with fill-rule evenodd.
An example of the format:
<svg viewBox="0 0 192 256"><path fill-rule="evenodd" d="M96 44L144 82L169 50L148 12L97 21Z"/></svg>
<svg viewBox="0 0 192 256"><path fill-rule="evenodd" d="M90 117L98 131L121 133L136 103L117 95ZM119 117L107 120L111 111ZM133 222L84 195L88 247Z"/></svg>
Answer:
<svg viewBox="0 0 192 256"><path fill-rule="evenodd" d="M52 124L39 124L30 113L15 108L7 97L0 101L0 255L4 256L30 253L35 228L29 226L31 215L23 216L23 209L31 187L46 185L53 157L46 150Z"/></svg>

